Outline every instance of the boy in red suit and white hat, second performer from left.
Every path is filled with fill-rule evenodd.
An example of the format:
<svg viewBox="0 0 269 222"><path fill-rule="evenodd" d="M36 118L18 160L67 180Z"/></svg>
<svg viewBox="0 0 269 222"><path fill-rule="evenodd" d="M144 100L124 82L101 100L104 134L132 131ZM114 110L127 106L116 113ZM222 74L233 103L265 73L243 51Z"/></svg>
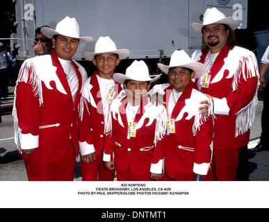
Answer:
<svg viewBox="0 0 269 222"><path fill-rule="evenodd" d="M129 50L117 49L110 37L99 37L94 52L84 52L86 59L97 67L83 83L79 146L82 180L114 180L115 172L104 169L104 150L108 110L111 101L122 91L112 76L120 60L129 56ZM93 138L93 139L92 139Z"/></svg>

